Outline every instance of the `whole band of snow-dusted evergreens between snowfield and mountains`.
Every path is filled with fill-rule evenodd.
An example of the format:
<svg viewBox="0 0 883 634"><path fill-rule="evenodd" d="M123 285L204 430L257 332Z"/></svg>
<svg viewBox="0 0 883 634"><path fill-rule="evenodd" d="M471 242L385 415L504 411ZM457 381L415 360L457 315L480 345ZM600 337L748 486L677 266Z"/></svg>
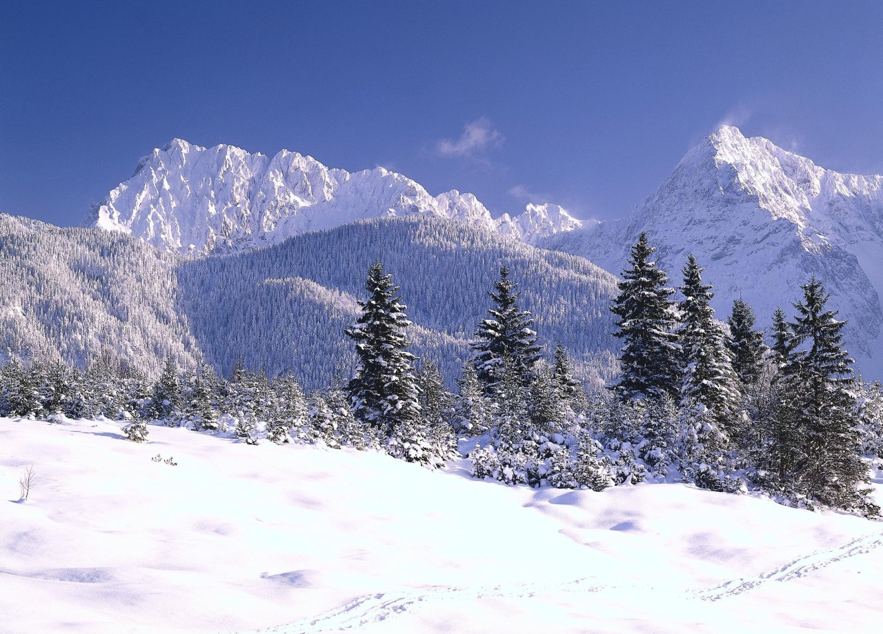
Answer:
<svg viewBox="0 0 883 634"><path fill-rule="evenodd" d="M380 449L429 467L465 457L478 479L591 488L686 481L718 491L763 490L781 502L876 514L865 457L883 446L879 383L854 376L845 322L811 279L796 316L774 315L770 343L737 299L714 319L712 287L692 256L682 299L644 234L631 249L611 311L623 342L610 389L586 393L559 343L545 353L505 266L472 338L456 392L438 363L409 351L412 324L392 275L368 268L366 299L345 331L358 359L347 381L305 395L291 373L268 377L242 359L224 379L203 364L156 381L101 360L0 369L0 415L147 421L232 434L246 443L313 442Z"/></svg>

